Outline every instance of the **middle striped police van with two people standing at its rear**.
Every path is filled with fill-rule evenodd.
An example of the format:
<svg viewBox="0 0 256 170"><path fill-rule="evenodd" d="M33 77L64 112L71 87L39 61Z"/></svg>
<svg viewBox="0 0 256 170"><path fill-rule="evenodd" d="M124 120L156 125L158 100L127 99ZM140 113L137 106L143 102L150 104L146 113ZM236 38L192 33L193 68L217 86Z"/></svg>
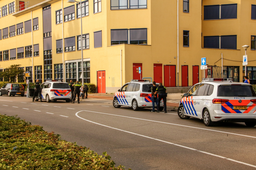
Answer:
<svg viewBox="0 0 256 170"><path fill-rule="evenodd" d="M156 83L156 86L158 86L158 83ZM153 83L150 83L149 80L131 80L130 83L126 83L115 93L113 106L115 108L121 106L132 107L135 111L139 108L150 108L152 107L151 87L153 87ZM160 103L160 111L162 110L164 110L163 100Z"/></svg>

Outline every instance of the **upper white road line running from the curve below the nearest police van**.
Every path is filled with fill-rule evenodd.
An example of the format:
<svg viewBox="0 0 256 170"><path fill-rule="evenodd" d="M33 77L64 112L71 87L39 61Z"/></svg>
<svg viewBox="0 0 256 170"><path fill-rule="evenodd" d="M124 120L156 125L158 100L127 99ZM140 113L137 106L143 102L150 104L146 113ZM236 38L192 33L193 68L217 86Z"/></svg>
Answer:
<svg viewBox="0 0 256 170"><path fill-rule="evenodd" d="M89 110L82 110L82 111L86 111L86 112L93 112L93 111L89 111ZM105 115L112 115L112 114L108 114L108 113L101 113L101 112L94 112L94 113L100 113L100 114L105 114ZM180 124L174 124L174 123L167 123L167 122L152 121L152 120L148 120L148 119L140 119L140 118L136 118L136 117L128 117L128 116L121 116L121 115L113 115L113 116L127 117L127 118L132 118L132 119L139 119L139 120L144 120L144 121L150 121L150 122L165 123L165 124L171 124L171 125L176 125L176 126L183 126L183 127L188 127L188 128L195 128L195 129L210 130L210 131L214 131L214 132L228 133L228 134L232 134L232 135L239 135L239 136L244 136L244 137L252 137L252 138L256 138L256 137L253 137L253 136L241 135L241 134L237 134L237 133L230 133L230 132L223 132L223 131L219 131L219 130L212 130L212 129L197 128L197 127L193 127L193 126L186 126L186 125L180 125Z"/></svg>

